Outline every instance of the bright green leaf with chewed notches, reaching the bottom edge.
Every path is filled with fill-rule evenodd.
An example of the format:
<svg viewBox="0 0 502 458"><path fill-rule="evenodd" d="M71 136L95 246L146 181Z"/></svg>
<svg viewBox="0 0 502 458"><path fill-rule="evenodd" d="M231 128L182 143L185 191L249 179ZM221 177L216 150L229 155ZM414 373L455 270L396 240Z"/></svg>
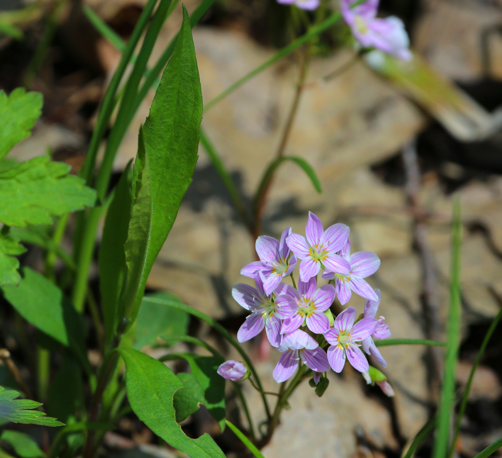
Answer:
<svg viewBox="0 0 502 458"><path fill-rule="evenodd" d="M174 393L183 383L166 365L133 349L119 349L126 362L126 389L129 403L155 434L192 458L225 458L207 433L197 439L185 435L176 423Z"/></svg>

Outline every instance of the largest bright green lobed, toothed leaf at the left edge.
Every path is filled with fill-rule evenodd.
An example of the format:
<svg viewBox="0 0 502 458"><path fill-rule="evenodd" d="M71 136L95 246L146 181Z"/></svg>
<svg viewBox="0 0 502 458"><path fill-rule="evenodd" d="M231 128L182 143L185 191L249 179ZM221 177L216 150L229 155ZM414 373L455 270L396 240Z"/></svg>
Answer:
<svg viewBox="0 0 502 458"><path fill-rule="evenodd" d="M52 216L94 205L96 193L70 166L39 156L0 172L0 222L50 224Z"/></svg>

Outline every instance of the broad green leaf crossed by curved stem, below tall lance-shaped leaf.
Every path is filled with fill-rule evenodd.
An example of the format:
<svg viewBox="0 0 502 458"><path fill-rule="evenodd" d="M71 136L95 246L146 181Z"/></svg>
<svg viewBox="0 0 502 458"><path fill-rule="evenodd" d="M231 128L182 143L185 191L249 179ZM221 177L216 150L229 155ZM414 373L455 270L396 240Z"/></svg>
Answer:
<svg viewBox="0 0 502 458"><path fill-rule="evenodd" d="M158 292L146 296L148 297L180 302L176 296L167 292ZM133 348L141 350L146 345L155 345L158 337L184 335L188 329L188 321L186 312L143 300L136 320L136 341Z"/></svg>

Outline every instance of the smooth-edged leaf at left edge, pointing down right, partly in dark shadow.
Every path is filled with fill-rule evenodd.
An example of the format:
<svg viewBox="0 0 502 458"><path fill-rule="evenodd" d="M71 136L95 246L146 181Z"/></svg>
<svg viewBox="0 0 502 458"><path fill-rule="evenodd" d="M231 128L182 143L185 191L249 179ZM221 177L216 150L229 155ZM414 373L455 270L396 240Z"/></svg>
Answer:
<svg viewBox="0 0 502 458"><path fill-rule="evenodd" d="M80 316L63 292L29 267L22 269L18 286L2 291L12 306L31 324L71 348L88 365Z"/></svg>

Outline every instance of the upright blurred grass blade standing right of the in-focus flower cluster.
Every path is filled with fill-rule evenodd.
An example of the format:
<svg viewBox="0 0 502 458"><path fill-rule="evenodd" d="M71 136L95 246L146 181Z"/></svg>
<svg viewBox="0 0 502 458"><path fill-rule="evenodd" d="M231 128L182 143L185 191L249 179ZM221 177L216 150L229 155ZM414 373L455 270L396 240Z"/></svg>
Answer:
<svg viewBox="0 0 502 458"><path fill-rule="evenodd" d="M462 221L460 219L460 203L453 208L453 227L451 242L451 279L450 306L447 322L447 347L444 362L444 375L439 396L438 427L433 446L433 458L444 458L448 452L450 439L451 416L455 404L455 384L460 346L460 256L462 246Z"/></svg>

